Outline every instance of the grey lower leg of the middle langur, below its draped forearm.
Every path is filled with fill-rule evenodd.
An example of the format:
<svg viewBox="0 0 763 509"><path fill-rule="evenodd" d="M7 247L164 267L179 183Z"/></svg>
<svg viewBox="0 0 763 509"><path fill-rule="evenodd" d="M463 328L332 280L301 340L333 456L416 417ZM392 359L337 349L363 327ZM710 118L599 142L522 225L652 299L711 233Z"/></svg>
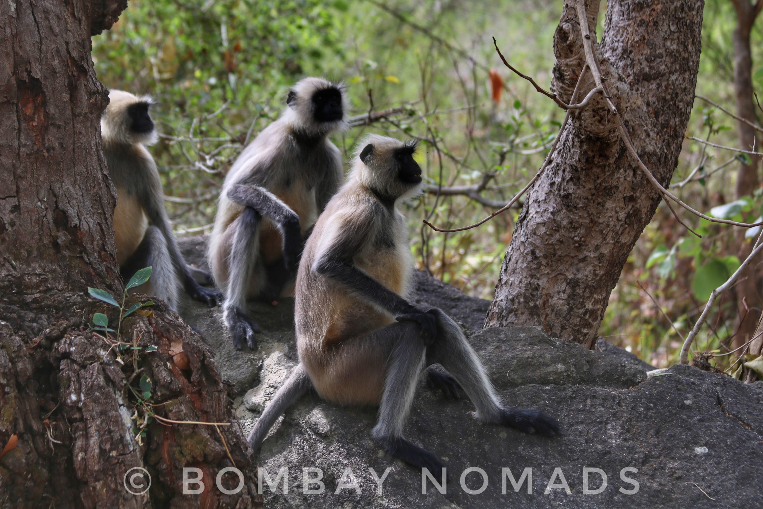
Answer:
<svg viewBox="0 0 763 509"><path fill-rule="evenodd" d="M238 350L244 343L251 349L256 348L254 334L259 327L246 316L246 293L249 289L255 264L259 257L259 224L262 221L257 211L246 207L236 221L230 224L234 228L233 239L228 254L228 280L225 288L223 319Z"/></svg>

